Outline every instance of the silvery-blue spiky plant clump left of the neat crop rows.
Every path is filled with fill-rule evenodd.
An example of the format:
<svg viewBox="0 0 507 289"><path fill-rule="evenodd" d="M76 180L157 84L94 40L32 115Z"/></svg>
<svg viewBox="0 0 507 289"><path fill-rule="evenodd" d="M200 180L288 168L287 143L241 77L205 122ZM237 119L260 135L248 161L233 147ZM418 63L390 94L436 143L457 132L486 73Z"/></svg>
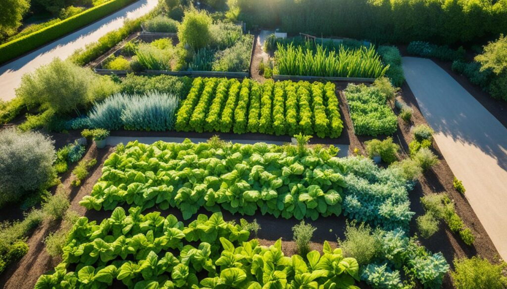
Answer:
<svg viewBox="0 0 507 289"><path fill-rule="evenodd" d="M90 127L106 130L166 131L174 126L179 99L149 92L144 95L116 94L96 104L88 113Z"/></svg>

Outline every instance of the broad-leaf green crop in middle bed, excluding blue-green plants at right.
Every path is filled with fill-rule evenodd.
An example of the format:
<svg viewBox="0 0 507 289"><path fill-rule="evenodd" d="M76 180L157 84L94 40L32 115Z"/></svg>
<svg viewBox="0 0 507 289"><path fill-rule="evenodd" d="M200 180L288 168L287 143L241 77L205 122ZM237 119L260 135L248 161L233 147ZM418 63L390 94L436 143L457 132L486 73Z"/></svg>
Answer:
<svg viewBox="0 0 507 289"><path fill-rule="evenodd" d="M155 205L175 207L182 210L184 219L201 207L250 216L260 211L298 220L339 216L345 183L339 159L331 156L333 149L303 155L294 151L290 156L279 149L265 143L227 144L216 149L208 143L193 144L189 140L151 146L129 143L124 153L113 153L104 162L101 179L80 203L95 210L111 210L123 203L135 203L144 209ZM154 150L163 153L154 155ZM146 151L146 155L136 151ZM217 163L218 154L224 164ZM196 161L188 163L189 157ZM150 159L147 166L142 165L141 159L145 158ZM260 158L265 166L259 164ZM117 165L122 159L138 161L143 167L119 170ZM185 170L178 170L180 166L186 166Z"/></svg>

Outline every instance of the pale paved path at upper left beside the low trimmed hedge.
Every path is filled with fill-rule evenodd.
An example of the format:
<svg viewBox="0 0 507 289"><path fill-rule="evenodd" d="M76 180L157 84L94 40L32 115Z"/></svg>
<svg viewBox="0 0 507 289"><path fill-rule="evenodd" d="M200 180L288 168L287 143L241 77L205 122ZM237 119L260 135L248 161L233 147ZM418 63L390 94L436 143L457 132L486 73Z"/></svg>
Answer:
<svg viewBox="0 0 507 289"><path fill-rule="evenodd" d="M138 18L155 8L157 4L158 0L139 0L102 20L0 67L0 88L2 88L0 99L10 100L16 96L15 89L19 86L23 74L50 63L55 57L67 58L75 50L84 48L85 45L96 42L107 32L122 27L125 19Z"/></svg>

